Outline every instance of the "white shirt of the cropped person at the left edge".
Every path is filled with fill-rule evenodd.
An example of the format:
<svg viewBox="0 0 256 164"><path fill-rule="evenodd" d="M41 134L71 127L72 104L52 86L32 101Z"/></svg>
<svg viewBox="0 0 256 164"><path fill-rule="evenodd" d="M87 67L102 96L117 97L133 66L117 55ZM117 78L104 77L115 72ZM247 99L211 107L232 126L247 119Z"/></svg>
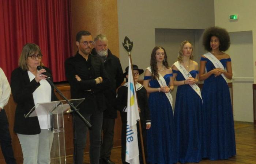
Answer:
<svg viewBox="0 0 256 164"><path fill-rule="evenodd" d="M7 77L4 74L4 71L0 68L0 108L8 103L9 97L11 94L11 87L7 80Z"/></svg>

